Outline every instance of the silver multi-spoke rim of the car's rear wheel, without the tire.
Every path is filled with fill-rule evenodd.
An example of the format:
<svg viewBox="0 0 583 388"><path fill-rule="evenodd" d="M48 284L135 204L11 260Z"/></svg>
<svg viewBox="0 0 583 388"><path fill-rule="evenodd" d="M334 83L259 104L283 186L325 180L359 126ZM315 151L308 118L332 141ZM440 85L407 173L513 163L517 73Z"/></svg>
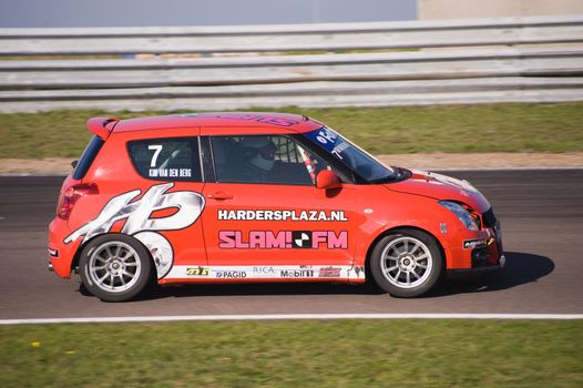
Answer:
<svg viewBox="0 0 583 388"><path fill-rule="evenodd" d="M122 293L137 282L142 264L133 247L112 241L93 251L86 270L91 282L99 288L109 293Z"/></svg>

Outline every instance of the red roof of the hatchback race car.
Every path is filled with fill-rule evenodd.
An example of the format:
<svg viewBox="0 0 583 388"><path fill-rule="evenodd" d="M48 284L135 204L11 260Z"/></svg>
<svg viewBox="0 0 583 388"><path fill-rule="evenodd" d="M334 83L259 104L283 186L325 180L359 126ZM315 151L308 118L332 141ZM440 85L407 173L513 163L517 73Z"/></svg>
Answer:
<svg viewBox="0 0 583 388"><path fill-rule="evenodd" d="M277 132L289 130L301 133L313 131L323 126L316 120L307 116L289 113L264 113L264 112L229 112L229 113L185 113L163 116L150 116L139 119L120 120L113 127L113 132L131 132L146 130L163 130L176 127L269 127Z"/></svg>

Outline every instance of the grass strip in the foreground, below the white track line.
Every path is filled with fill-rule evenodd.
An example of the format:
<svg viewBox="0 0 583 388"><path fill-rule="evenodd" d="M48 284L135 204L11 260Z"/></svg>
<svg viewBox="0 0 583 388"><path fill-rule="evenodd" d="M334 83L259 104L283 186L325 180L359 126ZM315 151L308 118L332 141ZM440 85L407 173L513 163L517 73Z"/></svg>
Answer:
<svg viewBox="0 0 583 388"><path fill-rule="evenodd" d="M581 387L583 320L0 327L2 387Z"/></svg>

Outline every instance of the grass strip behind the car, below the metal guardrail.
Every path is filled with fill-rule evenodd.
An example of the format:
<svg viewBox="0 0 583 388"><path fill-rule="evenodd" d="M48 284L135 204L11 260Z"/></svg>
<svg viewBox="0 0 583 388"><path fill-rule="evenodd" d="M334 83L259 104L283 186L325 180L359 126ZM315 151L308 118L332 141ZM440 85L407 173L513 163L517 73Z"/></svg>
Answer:
<svg viewBox="0 0 583 388"><path fill-rule="evenodd" d="M274 110L270 110L274 111ZM375 154L583 150L583 102L407 108L285 108L321 120ZM0 157L79 156L88 118L171 112L54 111L0 114Z"/></svg>

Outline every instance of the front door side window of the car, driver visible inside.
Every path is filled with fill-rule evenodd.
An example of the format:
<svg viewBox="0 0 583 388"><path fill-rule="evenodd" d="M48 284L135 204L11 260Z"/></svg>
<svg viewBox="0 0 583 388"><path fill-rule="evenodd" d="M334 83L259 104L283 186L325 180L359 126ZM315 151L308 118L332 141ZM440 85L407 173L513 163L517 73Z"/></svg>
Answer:
<svg viewBox="0 0 583 388"><path fill-rule="evenodd" d="M216 178L232 183L314 185L331 167L285 135L211 137Z"/></svg>

